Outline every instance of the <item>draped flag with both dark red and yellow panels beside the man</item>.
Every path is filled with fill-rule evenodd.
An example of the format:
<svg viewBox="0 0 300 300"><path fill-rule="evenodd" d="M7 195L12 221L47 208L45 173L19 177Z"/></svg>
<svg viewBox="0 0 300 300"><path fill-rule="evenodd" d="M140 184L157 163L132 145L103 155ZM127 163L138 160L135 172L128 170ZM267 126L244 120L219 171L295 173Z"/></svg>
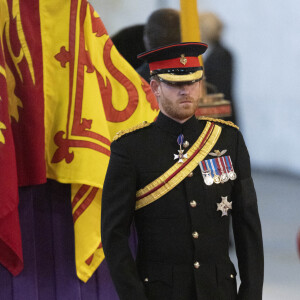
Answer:
<svg viewBox="0 0 300 300"><path fill-rule="evenodd" d="M16 49L8 43L5 48L15 90L20 90L9 98L19 114L13 128L20 140L19 183L47 177L72 184L77 275L87 281L104 258L101 193L112 138L119 130L153 121L158 106L86 0L7 2L9 24L17 29L6 35ZM28 129L26 139L18 135L22 126ZM28 155L37 164L24 164Z"/></svg>

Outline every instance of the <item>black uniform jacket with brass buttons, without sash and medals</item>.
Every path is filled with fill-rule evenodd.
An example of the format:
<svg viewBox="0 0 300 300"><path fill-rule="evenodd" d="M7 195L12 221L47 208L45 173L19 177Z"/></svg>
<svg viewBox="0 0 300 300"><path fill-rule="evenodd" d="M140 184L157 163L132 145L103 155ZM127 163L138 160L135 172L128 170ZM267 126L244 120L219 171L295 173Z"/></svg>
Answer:
<svg viewBox="0 0 300 300"><path fill-rule="evenodd" d="M261 226L249 155L237 129L219 124L222 133L212 149L227 150L236 180L208 186L197 167L165 196L135 211L136 191L176 163L178 135L182 133L190 144L186 153L205 124L194 117L179 124L160 113L150 126L111 145L101 227L120 299L262 299ZM238 293L235 267L228 256L229 216L217 211L217 203L226 196L232 201L229 215L241 278ZM138 234L136 261L128 246L133 220Z"/></svg>

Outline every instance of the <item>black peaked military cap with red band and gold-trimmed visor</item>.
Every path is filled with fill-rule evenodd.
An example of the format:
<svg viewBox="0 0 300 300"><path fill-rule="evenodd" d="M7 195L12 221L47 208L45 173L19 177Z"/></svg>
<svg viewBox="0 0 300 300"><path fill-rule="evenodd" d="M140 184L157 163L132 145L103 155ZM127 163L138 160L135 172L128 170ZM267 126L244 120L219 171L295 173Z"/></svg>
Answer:
<svg viewBox="0 0 300 300"><path fill-rule="evenodd" d="M155 48L137 57L148 62L150 75L157 75L161 81L196 82L203 76L203 66L198 56L206 49L204 43L179 43Z"/></svg>

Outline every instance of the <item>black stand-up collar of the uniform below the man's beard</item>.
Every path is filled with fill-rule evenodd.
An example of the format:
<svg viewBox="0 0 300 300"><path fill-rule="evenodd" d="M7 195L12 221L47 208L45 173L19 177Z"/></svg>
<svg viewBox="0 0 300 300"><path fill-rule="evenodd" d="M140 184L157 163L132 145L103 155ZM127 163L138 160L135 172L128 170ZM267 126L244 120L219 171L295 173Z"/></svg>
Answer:
<svg viewBox="0 0 300 300"><path fill-rule="evenodd" d="M168 133L176 136L178 136L179 134L183 134L186 136L194 134L197 135L199 128L199 124L195 116L192 116L186 122L181 124L167 117L162 112L159 113L155 124L159 127L160 130L167 131Z"/></svg>

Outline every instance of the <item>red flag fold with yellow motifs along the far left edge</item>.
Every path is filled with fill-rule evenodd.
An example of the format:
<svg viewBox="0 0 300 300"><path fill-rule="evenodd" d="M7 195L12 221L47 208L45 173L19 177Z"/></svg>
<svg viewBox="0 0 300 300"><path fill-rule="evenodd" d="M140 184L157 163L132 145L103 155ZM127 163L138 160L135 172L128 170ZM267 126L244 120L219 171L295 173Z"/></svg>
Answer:
<svg viewBox="0 0 300 300"><path fill-rule="evenodd" d="M17 275L23 268L23 256L16 156L10 115L13 111L9 107L9 95L14 91L15 81L4 53L8 22L8 6L0 1L0 263L13 275ZM18 101L16 97L13 100Z"/></svg>

